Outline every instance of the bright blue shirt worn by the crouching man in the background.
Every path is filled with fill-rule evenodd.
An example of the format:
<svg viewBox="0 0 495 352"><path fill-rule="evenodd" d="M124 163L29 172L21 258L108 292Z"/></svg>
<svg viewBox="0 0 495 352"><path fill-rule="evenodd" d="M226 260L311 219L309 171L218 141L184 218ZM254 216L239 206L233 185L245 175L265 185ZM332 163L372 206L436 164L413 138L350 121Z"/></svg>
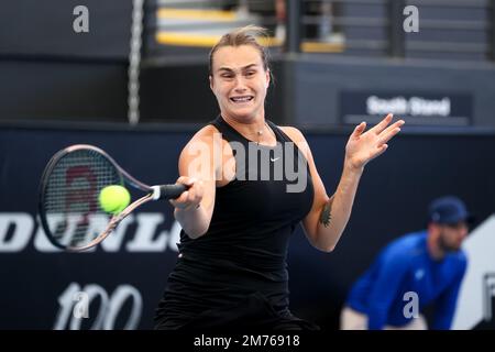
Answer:
<svg viewBox="0 0 495 352"><path fill-rule="evenodd" d="M404 314L411 301L405 294L413 292L418 295L419 310L435 300L431 328L447 330L452 323L466 265L468 257L462 250L440 261L431 258L426 231L406 234L378 254L353 285L346 305L367 315L369 329L383 329L386 324L400 327L414 319Z"/></svg>

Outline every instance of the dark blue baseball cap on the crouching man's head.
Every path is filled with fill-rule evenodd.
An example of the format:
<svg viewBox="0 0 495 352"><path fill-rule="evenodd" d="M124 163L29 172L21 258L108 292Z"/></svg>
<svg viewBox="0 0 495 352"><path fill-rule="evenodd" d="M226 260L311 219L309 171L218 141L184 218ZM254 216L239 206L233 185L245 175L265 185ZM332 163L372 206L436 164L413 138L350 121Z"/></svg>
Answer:
<svg viewBox="0 0 495 352"><path fill-rule="evenodd" d="M436 223L454 224L461 221L471 223L473 217L464 202L454 196L435 199L428 208L428 221Z"/></svg>

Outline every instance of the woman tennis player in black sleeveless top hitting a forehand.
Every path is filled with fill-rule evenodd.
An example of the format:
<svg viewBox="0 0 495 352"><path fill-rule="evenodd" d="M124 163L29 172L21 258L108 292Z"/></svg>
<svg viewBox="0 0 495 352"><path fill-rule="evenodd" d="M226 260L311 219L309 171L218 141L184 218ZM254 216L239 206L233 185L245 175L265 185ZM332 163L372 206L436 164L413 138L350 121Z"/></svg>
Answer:
<svg viewBox="0 0 495 352"><path fill-rule="evenodd" d="M271 70L258 42L264 34L256 26L238 29L210 52L220 116L179 157L177 183L190 188L170 200L183 231L156 329L318 329L289 310L289 237L301 222L309 242L331 252L364 166L404 124L391 124L392 114L366 132L366 123L359 124L346 143L337 190L328 196L301 132L265 118Z"/></svg>

